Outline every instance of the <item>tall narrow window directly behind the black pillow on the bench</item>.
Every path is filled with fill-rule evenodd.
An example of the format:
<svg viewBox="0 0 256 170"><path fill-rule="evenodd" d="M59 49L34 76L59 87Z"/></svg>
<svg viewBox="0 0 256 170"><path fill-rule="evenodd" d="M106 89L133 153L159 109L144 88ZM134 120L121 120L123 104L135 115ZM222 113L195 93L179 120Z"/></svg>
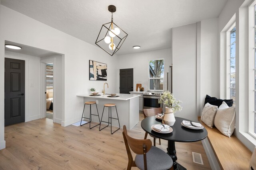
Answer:
<svg viewBox="0 0 256 170"><path fill-rule="evenodd" d="M236 103L236 26L230 31L230 99Z"/></svg>

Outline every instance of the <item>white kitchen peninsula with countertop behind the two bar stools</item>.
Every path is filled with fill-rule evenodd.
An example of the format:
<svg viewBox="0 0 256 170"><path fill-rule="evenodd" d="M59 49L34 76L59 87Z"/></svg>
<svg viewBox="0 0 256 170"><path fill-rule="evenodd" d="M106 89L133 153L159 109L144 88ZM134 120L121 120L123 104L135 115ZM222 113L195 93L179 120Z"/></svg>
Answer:
<svg viewBox="0 0 256 170"><path fill-rule="evenodd" d="M78 94L78 97L84 97L84 102L96 101L100 118L104 104L114 103L118 111L120 127L126 125L127 129L132 129L139 122L139 94L116 94L119 97L108 97L110 94L101 94L100 96L90 96L91 94ZM84 105L81 104L81 105ZM85 108L85 114L89 114L90 107ZM92 113L96 112L96 106L92 106ZM102 120L108 120L108 108L104 109ZM112 117L116 117L116 110L112 109ZM88 121L88 120L86 120ZM98 122L96 116L92 116L92 121ZM112 125L118 127L118 121L112 121Z"/></svg>

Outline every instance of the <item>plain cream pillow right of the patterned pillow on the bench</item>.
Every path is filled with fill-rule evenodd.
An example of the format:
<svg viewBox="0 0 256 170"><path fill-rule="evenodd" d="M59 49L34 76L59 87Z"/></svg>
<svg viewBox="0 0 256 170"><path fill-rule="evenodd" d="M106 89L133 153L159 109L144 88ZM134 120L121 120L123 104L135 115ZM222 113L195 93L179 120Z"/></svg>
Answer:
<svg viewBox="0 0 256 170"><path fill-rule="evenodd" d="M228 107L225 102L220 105L215 119L214 126L225 136L230 137L235 129L235 106Z"/></svg>

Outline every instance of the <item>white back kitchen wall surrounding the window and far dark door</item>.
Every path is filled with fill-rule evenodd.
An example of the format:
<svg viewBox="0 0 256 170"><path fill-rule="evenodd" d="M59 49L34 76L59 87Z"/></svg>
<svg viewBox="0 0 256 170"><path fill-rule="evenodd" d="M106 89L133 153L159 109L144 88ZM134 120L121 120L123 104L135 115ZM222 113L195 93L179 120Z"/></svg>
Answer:
<svg viewBox="0 0 256 170"><path fill-rule="evenodd" d="M166 76L169 70L169 66L172 65L171 49L161 49L118 56L118 72L119 69L133 68L134 91L136 91L137 83L142 84L142 87L144 87L144 91L148 90L148 61L152 59L164 59L164 90L166 90ZM119 74L117 76L119 87Z"/></svg>

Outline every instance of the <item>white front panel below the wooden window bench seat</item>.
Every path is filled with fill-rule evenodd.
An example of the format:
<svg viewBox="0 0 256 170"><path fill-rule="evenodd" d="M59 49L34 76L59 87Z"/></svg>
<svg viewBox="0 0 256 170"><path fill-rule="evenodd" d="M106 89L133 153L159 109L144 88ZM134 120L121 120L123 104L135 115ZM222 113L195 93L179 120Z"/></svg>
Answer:
<svg viewBox="0 0 256 170"><path fill-rule="evenodd" d="M212 170L221 170L218 160L215 157L215 154L212 150L212 147L211 147L208 139L206 138L206 139L202 140L202 144L203 144L204 150L206 152L206 155L207 155L207 158L209 160Z"/></svg>

